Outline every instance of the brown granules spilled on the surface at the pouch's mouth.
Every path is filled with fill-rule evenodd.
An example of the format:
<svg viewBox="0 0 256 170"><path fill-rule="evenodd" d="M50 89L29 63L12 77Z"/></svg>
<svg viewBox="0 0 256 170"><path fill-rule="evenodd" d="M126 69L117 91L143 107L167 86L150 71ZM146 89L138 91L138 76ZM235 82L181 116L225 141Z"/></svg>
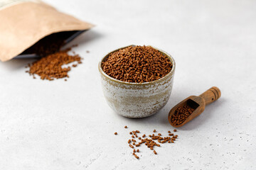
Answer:
<svg viewBox="0 0 256 170"><path fill-rule="evenodd" d="M79 62L81 60L79 55L68 55L68 51L70 50L71 48L68 48L67 50L55 52L46 57L42 57L31 65L29 64L28 73L31 75L38 74L41 79L48 80L68 77L68 72L71 70L71 67L63 68L63 65L71 62Z"/></svg>

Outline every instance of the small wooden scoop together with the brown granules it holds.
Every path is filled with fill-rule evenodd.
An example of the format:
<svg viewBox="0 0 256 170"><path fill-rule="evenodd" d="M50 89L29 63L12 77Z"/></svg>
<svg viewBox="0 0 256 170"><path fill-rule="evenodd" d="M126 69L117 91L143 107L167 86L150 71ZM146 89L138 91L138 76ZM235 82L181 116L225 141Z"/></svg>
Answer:
<svg viewBox="0 0 256 170"><path fill-rule="evenodd" d="M169 123L176 128L185 125L203 113L206 105L220 98L220 94L220 89L213 86L200 96L190 96L184 99L169 112Z"/></svg>

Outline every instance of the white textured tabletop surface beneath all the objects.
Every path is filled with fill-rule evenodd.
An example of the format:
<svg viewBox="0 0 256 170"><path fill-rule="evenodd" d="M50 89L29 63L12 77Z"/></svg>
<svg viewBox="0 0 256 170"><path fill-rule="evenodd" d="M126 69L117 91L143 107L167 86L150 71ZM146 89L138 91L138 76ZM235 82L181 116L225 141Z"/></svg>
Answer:
<svg viewBox="0 0 256 170"><path fill-rule="evenodd" d="M73 42L85 60L68 81L32 79L31 60L0 63L0 169L256 169L256 1L48 3L97 26ZM98 62L129 44L176 60L171 99L149 118L114 114L102 94ZM178 129L175 145L132 157L130 130L173 130L169 110L210 86L221 98Z"/></svg>

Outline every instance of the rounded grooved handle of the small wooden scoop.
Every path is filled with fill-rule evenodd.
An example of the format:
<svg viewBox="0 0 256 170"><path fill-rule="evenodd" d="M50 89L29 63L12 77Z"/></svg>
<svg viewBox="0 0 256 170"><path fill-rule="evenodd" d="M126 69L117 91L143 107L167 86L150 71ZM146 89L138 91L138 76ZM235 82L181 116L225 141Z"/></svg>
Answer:
<svg viewBox="0 0 256 170"><path fill-rule="evenodd" d="M218 89L218 87L216 86L213 86L200 96L206 101L206 105L208 105L210 103L213 103L213 101L216 101L218 98L220 98L220 95L220 89Z"/></svg>

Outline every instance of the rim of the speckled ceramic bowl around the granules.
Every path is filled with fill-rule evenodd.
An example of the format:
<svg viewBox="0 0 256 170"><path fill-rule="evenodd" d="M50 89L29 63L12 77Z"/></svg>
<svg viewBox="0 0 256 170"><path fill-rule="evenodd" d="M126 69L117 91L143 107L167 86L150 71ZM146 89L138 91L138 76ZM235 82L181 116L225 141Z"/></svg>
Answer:
<svg viewBox="0 0 256 170"><path fill-rule="evenodd" d="M120 47L118 48L117 50L121 50L121 49L124 49L126 47L130 47L130 46L136 46L136 45L127 45L125 47ZM113 77L110 77L109 75L107 75L103 69L102 69L102 61L105 60L105 58L110 55L110 53L112 52L115 52L117 50L113 50L112 52L108 52L107 55L105 55L104 57L102 57L102 60L100 60L99 64L98 64L98 69L99 69L99 72L104 75L105 77L107 77L107 79L111 79L112 81L116 81L118 83L121 83L121 84L129 84L129 85L146 85L146 84L154 84L156 83L157 81L161 81L162 79L168 77L170 74L174 74L174 71L175 71L175 67L176 67L176 63L175 63L175 60L174 60L174 57L172 57L171 55L169 55L169 53L165 52L164 50L160 50L156 47L153 47L151 45L146 45L146 46L149 46L149 47L152 47L154 48L155 50L159 50L160 52L164 53L164 55L166 55L167 57L169 57L169 60L171 61L171 63L173 64L173 67L171 68L171 72L169 72L168 74L166 74L164 77L161 77L161 79L157 79L157 80L154 80L154 81L149 81L149 82L144 82L144 83L134 83L134 82L127 82L127 81L121 81L121 80L118 80L118 79L114 79Z"/></svg>

